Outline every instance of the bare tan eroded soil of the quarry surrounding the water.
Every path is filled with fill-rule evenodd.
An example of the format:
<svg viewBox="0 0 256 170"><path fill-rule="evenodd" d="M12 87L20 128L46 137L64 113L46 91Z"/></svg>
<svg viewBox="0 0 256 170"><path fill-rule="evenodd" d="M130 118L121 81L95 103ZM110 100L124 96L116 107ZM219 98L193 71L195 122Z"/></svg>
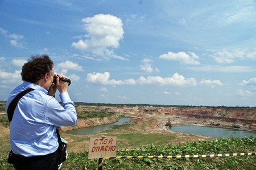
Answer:
<svg viewBox="0 0 256 170"><path fill-rule="evenodd" d="M149 109L141 109L137 107L133 108L118 108L118 107L86 107L89 108L92 111L101 111L102 109L104 111L109 111L109 112L116 112L119 114L122 114L123 116L128 116L131 118L131 122L134 122L135 124L130 124L129 126L124 126L125 128L119 128L119 129L113 129L113 130L108 130L104 131L102 133L94 134L94 135L71 135L65 133L66 130L71 130L73 128L82 128L82 127L88 127L88 126L96 126L100 124L106 124L110 122L117 121L117 116L111 117L108 119L98 119L94 118L92 120L79 120L79 124L74 127L68 127L64 128L60 132L61 136L68 141L68 151L69 152L82 152L82 151L88 151L89 148L89 139L90 137L95 137L95 136L101 136L101 135L115 135L118 137L119 134L150 134L150 135L155 135L155 134L161 134L163 136L171 136L174 137L170 141L166 141L166 145L172 144L172 145L180 145L186 142L192 142L192 141L205 141L205 140L213 140L214 138L212 137L205 137L201 135L193 135L193 134L184 134L184 133L176 133L172 132L170 129L168 129L166 125L166 122L170 118L172 122L172 126L184 126L184 125L189 125L189 126L212 126L210 125L212 122L214 124L220 124L219 126L215 126L218 128L232 128L233 122L230 121L225 121L225 119L220 119L216 120L216 116L227 116L233 115L234 111L213 111L209 110L207 114L213 115L209 117L204 117L204 116L198 116L199 113L206 115L206 111L202 112L201 110L199 111L194 110L195 113L197 113L197 118L195 116L190 116L190 112L188 110L184 110L185 114L180 114L180 110L175 110L175 109L169 109L168 111L166 109L159 109L159 108L152 108L150 107ZM83 109L81 107L78 108ZM204 108L203 108L204 109ZM179 114L174 114L174 112L178 112ZM189 113L188 113L189 112ZM216 113L215 113L216 112ZM236 111L238 112L238 111ZM245 111L243 111L245 112ZM253 116L253 120L255 117L255 114L251 109L249 109L248 114ZM170 114L172 113L172 114ZM224 115L225 113L225 115ZM2 113L3 114L3 113ZM239 114L241 117L241 120L245 120L248 117L245 116L244 114ZM213 119L211 119L213 118ZM5 126L6 127L6 126ZM0 126L0 154L8 154L10 151L10 141L9 141L9 128L5 128L3 126ZM256 125L254 123L250 124L243 124L242 130L256 130ZM121 148L129 148L129 141L126 139L117 139L117 143L119 146L118 149ZM150 143L148 143L150 144Z"/></svg>

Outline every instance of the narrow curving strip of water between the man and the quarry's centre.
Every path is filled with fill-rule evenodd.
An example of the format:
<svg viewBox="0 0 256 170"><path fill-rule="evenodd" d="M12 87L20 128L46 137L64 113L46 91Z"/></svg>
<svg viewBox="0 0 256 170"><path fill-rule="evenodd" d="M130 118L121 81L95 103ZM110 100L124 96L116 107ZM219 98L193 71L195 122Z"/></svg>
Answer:
<svg viewBox="0 0 256 170"><path fill-rule="evenodd" d="M107 125L100 125L100 126L93 126L88 128L79 128L67 131L68 134L75 134L75 135L92 135L96 133L100 133L105 130L112 129L115 125L122 125L122 124L131 124L129 123L130 118L120 118L117 122L114 122L113 124L107 124Z"/></svg>

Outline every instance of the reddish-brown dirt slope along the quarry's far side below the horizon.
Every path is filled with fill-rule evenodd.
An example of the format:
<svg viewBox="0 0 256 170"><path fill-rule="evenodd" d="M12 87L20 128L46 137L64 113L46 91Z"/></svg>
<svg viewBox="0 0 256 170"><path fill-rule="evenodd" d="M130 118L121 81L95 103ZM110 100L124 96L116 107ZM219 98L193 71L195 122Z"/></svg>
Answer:
<svg viewBox="0 0 256 170"><path fill-rule="evenodd" d="M256 123L256 108L112 107L110 112L210 118L227 122Z"/></svg>

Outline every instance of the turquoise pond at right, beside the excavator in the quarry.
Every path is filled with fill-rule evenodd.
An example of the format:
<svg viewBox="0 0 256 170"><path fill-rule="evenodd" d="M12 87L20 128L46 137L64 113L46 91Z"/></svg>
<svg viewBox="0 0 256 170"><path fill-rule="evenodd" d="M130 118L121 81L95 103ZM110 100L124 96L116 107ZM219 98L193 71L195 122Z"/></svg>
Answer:
<svg viewBox="0 0 256 170"><path fill-rule="evenodd" d="M226 128L211 128L211 127L205 127L205 126L176 126L171 127L171 131L176 132L183 132L183 133L189 133L189 134L197 134L197 135L203 135L208 137L217 137L217 138L223 138L223 137L256 137L256 132L253 131L243 131L243 130L236 130L236 129L226 129Z"/></svg>

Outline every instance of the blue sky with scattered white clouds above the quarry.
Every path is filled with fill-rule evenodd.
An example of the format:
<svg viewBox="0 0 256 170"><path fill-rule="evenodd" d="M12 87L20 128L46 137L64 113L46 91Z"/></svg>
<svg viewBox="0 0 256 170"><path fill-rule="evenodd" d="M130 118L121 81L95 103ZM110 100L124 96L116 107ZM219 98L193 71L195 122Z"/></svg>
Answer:
<svg viewBox="0 0 256 170"><path fill-rule="evenodd" d="M73 101L256 107L255 16L254 0L0 0L0 100L47 54Z"/></svg>

